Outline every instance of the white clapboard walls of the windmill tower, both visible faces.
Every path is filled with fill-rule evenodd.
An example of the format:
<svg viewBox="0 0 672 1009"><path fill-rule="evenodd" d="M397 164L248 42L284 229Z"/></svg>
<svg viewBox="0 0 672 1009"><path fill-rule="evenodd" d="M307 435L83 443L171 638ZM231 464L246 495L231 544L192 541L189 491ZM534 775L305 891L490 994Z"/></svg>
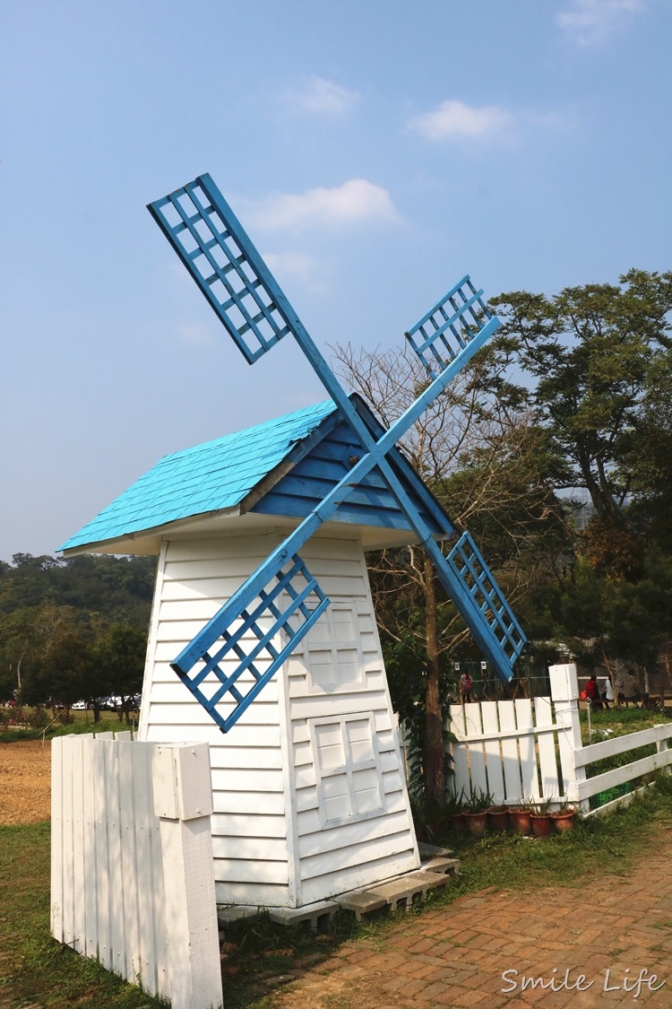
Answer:
<svg viewBox="0 0 672 1009"><path fill-rule="evenodd" d="M175 540L159 559L140 734L210 744L220 903L300 906L419 865L359 544L313 538L302 549L331 605L226 736L170 669L280 539ZM325 815L315 754L315 726L327 722L366 724L370 737L366 768L362 755L345 755L350 806L335 818ZM372 780L358 781L358 770Z"/></svg>

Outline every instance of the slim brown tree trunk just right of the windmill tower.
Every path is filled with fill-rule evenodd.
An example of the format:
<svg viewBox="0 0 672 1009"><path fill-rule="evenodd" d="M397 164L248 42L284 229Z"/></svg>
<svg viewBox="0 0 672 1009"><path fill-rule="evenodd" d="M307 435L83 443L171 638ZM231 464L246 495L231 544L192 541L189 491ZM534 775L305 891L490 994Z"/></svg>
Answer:
<svg viewBox="0 0 672 1009"><path fill-rule="evenodd" d="M436 613L436 583L434 566L424 558L425 637L427 651L427 676L425 685L425 804L443 802L445 782L443 775L443 717L438 678L438 626Z"/></svg>

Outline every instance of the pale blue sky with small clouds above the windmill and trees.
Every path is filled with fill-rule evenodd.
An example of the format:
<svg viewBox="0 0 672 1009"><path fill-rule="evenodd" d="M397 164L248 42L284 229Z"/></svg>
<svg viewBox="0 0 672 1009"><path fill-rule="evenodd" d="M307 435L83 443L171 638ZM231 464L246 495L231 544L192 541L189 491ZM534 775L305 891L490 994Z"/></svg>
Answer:
<svg viewBox="0 0 672 1009"><path fill-rule="evenodd" d="M672 0L7 5L0 559L168 452L323 399L250 367L145 205L210 172L315 342L401 346L464 272L672 268Z"/></svg>

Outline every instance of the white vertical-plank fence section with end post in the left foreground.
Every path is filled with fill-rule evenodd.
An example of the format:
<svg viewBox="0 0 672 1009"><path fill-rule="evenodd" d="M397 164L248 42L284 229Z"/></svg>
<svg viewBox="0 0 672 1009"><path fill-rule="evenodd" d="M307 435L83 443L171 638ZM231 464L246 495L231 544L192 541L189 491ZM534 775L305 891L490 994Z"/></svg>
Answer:
<svg viewBox="0 0 672 1009"><path fill-rule="evenodd" d="M207 744L51 743L51 934L172 1009L221 1006Z"/></svg>

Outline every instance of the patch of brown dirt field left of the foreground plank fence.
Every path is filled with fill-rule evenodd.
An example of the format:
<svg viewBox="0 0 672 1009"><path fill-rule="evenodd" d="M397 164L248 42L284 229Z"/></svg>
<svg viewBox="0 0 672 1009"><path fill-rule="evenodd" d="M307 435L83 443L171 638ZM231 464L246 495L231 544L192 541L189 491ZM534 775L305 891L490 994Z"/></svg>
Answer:
<svg viewBox="0 0 672 1009"><path fill-rule="evenodd" d="M0 823L37 823L50 816L51 747L0 743Z"/></svg>

